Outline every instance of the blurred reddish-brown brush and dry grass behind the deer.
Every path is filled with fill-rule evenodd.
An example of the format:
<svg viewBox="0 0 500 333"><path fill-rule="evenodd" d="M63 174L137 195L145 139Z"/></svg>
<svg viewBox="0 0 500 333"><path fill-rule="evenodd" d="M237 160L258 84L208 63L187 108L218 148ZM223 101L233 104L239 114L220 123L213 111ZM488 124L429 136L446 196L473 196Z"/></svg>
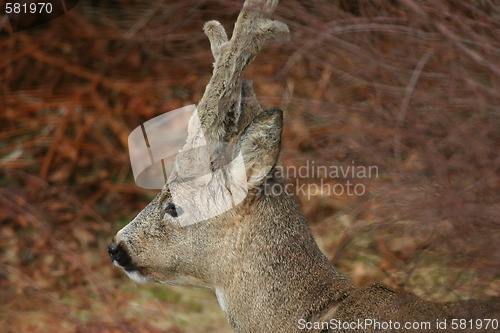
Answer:
<svg viewBox="0 0 500 333"><path fill-rule="evenodd" d="M230 331L212 293L137 285L106 248L155 195L128 135L200 100L202 25L230 34L241 5L82 1L16 33L0 16L0 331ZM283 164L378 170L300 179L366 189L300 194L327 257L359 286L500 295L498 3L288 0L274 17L291 41L245 76L285 110Z"/></svg>

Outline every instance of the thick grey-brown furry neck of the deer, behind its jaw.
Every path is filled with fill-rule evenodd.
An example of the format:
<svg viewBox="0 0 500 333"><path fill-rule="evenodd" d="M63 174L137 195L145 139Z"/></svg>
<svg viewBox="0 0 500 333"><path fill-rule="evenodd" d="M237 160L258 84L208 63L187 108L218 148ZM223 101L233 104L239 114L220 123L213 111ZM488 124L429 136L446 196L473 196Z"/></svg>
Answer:
<svg viewBox="0 0 500 333"><path fill-rule="evenodd" d="M321 253L295 198L258 204L267 214L235 229L217 299L235 332L294 332L300 319L328 311L354 286Z"/></svg>

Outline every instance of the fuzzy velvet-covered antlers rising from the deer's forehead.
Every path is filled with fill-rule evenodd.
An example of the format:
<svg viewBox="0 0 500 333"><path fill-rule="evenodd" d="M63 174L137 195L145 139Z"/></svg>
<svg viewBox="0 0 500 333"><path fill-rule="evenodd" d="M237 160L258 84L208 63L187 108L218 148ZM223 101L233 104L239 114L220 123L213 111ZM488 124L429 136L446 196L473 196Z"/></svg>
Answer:
<svg viewBox="0 0 500 333"><path fill-rule="evenodd" d="M288 40L286 24L269 19L277 4L277 0L246 0L230 40L218 21L205 23L214 69L190 120L186 144L169 182L178 176L185 179L206 174L207 168L220 166L223 143L230 142L262 112L251 81L243 80L242 74L266 43Z"/></svg>

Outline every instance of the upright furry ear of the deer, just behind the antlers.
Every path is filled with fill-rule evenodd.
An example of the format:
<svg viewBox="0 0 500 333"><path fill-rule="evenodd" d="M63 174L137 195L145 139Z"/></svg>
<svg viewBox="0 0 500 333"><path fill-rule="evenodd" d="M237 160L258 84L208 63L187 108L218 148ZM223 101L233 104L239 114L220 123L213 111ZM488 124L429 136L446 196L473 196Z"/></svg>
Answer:
<svg viewBox="0 0 500 333"><path fill-rule="evenodd" d="M264 182L278 161L283 129L283 111L271 108L261 112L238 138L235 154L241 154L248 189Z"/></svg>

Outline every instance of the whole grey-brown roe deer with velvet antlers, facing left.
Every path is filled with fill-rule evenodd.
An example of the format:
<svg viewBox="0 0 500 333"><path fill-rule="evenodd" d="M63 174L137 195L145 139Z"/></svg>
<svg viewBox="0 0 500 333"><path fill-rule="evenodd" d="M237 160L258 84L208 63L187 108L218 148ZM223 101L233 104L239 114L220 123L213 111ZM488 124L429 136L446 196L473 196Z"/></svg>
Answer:
<svg viewBox="0 0 500 333"><path fill-rule="evenodd" d="M321 253L296 198L265 190L285 184L275 172L283 115L263 111L241 77L263 45L289 36L269 18L276 5L247 0L230 40L220 23L205 24L213 76L168 181L109 245L113 263L137 282L214 290L239 333L448 332L453 319L472 318L498 325L496 298L432 303L377 283L356 288Z"/></svg>

